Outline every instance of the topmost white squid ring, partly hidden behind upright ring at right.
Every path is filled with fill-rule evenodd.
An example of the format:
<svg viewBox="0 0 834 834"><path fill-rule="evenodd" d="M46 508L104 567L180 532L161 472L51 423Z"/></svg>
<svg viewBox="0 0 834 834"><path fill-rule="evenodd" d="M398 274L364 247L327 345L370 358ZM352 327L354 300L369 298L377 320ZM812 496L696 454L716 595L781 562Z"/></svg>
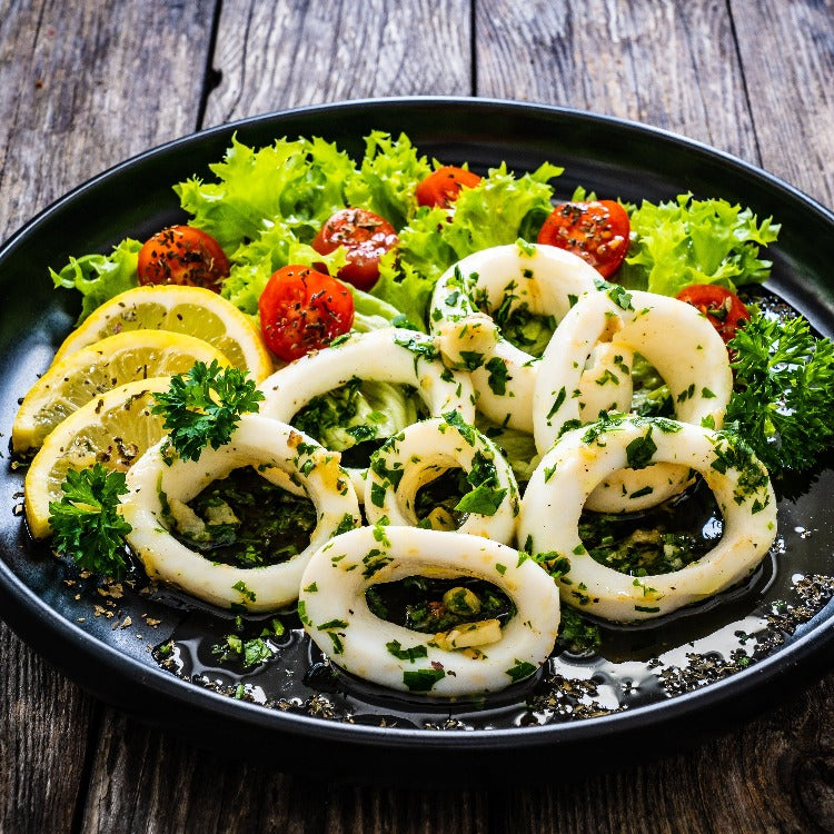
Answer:
<svg viewBox="0 0 834 834"><path fill-rule="evenodd" d="M493 317L478 312L474 298L485 306L515 311L526 308L560 321L572 304L595 291L599 274L582 258L553 246L510 244L469 255L437 281L429 320L440 349L455 366L471 371L478 391L478 410L499 425L533 431L533 393L538 360L512 345ZM631 393L618 393L624 410ZM593 391L592 391L593 394ZM597 409L598 410L598 409Z"/></svg>

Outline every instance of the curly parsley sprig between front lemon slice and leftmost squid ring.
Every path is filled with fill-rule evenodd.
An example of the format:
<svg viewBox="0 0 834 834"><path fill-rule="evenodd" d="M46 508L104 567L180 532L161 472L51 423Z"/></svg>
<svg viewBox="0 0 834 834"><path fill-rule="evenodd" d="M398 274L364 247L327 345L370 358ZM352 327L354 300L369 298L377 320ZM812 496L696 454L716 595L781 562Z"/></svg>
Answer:
<svg viewBox="0 0 834 834"><path fill-rule="evenodd" d="M175 449L183 460L199 460L206 446L227 444L247 411L257 411L264 393L239 368L195 363L187 374L171 377L168 391L153 395L153 414L165 417L170 434L163 451Z"/></svg>

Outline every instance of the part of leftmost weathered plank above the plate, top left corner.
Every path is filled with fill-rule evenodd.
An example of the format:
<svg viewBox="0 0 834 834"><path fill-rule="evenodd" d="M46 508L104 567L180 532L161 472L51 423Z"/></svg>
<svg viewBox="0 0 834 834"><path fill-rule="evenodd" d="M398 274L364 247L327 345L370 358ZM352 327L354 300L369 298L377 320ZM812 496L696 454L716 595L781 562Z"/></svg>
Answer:
<svg viewBox="0 0 834 834"><path fill-rule="evenodd" d="M91 176L195 129L212 10L206 0L7 2L0 236Z"/></svg>

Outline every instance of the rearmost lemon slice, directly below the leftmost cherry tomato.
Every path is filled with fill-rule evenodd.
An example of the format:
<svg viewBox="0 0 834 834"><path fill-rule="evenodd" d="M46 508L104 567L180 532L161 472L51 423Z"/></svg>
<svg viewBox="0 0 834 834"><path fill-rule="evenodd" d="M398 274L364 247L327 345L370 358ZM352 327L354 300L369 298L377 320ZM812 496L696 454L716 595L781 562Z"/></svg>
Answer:
<svg viewBox="0 0 834 834"><path fill-rule="evenodd" d="M126 330L172 330L214 345L257 383L272 373L272 363L255 325L234 304L202 287L136 287L96 309L58 349L62 359L106 336Z"/></svg>

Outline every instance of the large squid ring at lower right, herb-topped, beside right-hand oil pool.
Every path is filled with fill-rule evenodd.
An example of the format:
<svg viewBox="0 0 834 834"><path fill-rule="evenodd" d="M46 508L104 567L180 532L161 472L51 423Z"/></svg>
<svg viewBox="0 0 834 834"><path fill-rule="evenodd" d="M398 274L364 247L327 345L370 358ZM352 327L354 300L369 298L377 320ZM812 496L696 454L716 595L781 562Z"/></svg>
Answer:
<svg viewBox="0 0 834 834"><path fill-rule="evenodd" d="M600 480L635 461L668 461L703 475L724 515L721 542L703 558L634 577L585 549L578 530L585 502ZM753 453L719 433L664 418L615 418L568 431L533 474L519 519L526 549L568 560L558 579L563 600L617 622L657 617L728 588L758 565L775 537L776 499Z"/></svg>

